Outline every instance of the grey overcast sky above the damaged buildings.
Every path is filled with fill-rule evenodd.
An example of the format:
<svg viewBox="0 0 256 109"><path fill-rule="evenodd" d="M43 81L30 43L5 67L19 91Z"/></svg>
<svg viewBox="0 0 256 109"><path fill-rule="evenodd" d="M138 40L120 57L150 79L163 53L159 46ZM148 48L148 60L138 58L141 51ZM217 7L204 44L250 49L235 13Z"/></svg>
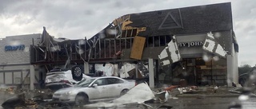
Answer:
<svg viewBox="0 0 256 109"><path fill-rule="evenodd" d="M256 64L255 0L0 0L0 38L42 33L90 38L124 14L231 2L238 64Z"/></svg>

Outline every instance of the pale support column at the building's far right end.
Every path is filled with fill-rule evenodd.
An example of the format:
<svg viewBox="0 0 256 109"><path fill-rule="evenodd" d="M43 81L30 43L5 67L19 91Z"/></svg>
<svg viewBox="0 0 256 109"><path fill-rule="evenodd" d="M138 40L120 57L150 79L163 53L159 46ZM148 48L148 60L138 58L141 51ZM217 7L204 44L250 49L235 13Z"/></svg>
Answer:
<svg viewBox="0 0 256 109"><path fill-rule="evenodd" d="M226 67L227 67L227 76L226 76L226 83L228 87L232 87L233 80L233 57L231 55L226 56Z"/></svg>

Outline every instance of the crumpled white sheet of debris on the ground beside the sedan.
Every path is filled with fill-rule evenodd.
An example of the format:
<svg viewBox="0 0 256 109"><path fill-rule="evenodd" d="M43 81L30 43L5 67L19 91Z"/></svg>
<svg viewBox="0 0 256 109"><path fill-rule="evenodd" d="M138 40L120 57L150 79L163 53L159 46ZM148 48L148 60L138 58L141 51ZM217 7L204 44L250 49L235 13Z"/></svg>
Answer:
<svg viewBox="0 0 256 109"><path fill-rule="evenodd" d="M114 99L107 103L104 103L104 102L92 103L92 104L86 105L85 107L118 107L118 106L127 105L127 104L139 104L146 108L147 107L153 108L149 104L146 104L146 102L149 102L152 99L153 100L159 99L160 103L164 103L169 99L169 92L162 91L162 92L156 93L150 89L148 84L142 83L130 89L130 91L127 91L125 95L122 95L118 99Z"/></svg>

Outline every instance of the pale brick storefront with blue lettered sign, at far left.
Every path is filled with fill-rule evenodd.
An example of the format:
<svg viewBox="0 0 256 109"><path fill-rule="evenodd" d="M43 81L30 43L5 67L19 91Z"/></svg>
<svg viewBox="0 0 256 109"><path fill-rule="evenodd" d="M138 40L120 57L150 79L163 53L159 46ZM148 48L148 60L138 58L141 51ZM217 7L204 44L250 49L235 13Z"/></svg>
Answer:
<svg viewBox="0 0 256 109"><path fill-rule="evenodd" d="M38 67L30 64L30 45L38 45L41 34L9 36L0 40L0 84L34 89Z"/></svg>

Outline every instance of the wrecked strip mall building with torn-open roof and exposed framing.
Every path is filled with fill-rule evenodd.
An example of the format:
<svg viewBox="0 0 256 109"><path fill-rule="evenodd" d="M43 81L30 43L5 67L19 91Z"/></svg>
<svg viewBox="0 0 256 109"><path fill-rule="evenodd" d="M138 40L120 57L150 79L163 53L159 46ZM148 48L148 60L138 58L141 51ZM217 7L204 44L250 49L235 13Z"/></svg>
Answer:
<svg viewBox="0 0 256 109"><path fill-rule="evenodd" d="M35 76L27 76L27 84L38 88L51 69L80 65L87 76L101 72L97 76L142 80L150 88L231 86L238 84L238 43L232 27L230 3L126 14L88 39L55 38L44 27L39 40L24 45L30 49L30 76ZM19 84L26 83L23 79Z"/></svg>

